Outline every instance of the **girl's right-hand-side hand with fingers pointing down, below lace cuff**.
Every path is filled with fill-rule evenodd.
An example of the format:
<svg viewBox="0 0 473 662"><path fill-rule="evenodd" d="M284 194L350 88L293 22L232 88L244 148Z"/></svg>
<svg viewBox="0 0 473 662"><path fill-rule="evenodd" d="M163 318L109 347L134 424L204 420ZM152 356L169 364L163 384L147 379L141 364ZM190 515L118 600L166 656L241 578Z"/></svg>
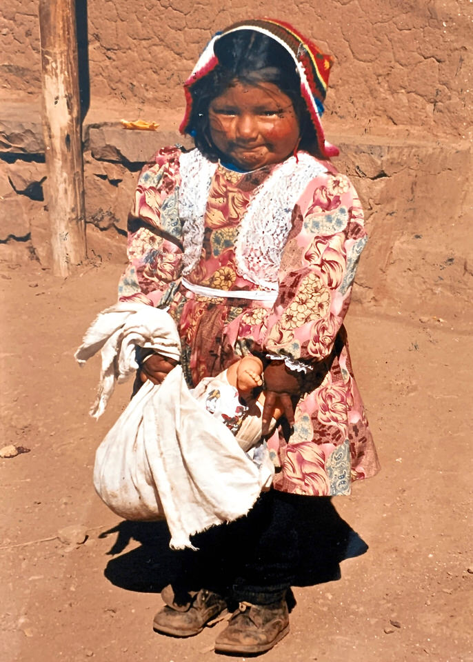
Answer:
<svg viewBox="0 0 473 662"><path fill-rule="evenodd" d="M279 407L290 427L294 425L292 396L300 392L297 377L285 366L284 361L272 361L264 371L265 403L261 417L263 435L268 434L274 409Z"/></svg>

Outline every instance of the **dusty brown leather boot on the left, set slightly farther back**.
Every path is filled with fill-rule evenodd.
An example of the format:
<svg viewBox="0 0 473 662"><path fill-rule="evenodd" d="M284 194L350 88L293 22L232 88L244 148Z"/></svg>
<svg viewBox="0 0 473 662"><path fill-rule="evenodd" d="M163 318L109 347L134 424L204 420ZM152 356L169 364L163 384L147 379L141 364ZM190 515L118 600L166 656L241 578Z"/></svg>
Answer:
<svg viewBox="0 0 473 662"><path fill-rule="evenodd" d="M165 606L154 616L153 629L172 636L194 636L226 608L225 600L205 588L189 591L179 599L172 586L161 591Z"/></svg>

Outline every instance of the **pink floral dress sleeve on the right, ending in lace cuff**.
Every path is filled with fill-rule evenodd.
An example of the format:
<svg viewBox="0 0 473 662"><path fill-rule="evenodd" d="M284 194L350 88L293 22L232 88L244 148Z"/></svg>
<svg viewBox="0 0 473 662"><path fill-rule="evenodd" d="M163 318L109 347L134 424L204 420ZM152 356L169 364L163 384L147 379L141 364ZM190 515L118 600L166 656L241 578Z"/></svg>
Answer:
<svg viewBox="0 0 473 662"><path fill-rule="evenodd" d="M310 363L332 352L367 235L352 183L336 172L310 183L292 220L263 345L273 355Z"/></svg>

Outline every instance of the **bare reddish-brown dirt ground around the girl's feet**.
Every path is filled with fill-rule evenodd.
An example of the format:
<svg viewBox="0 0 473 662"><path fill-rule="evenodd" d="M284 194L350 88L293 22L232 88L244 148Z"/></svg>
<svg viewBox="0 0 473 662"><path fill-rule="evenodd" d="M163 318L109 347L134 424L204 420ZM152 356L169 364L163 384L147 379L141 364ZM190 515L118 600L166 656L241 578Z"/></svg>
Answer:
<svg viewBox="0 0 473 662"><path fill-rule="evenodd" d="M113 303L121 265L56 279L0 264L2 662L197 662L217 659L223 623L193 639L152 631L161 605L165 527L123 523L94 494L97 445L122 410L122 385L98 423L99 374L72 354ZM472 654L470 319L419 319L354 303L354 368L382 472L333 500L369 549L341 579L296 587L291 632L268 662L467 662ZM85 542L59 532L87 530ZM63 540L61 540L63 538ZM237 658L244 659L244 658Z"/></svg>

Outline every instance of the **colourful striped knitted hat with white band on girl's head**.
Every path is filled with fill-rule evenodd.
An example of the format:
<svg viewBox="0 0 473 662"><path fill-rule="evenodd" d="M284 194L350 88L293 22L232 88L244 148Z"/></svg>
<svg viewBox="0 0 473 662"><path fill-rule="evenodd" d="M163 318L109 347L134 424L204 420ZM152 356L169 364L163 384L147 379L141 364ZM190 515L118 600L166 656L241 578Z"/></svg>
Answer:
<svg viewBox="0 0 473 662"><path fill-rule="evenodd" d="M300 32L297 32L288 23L282 23L273 19L256 19L254 21L240 21L234 23L222 32L217 32L209 41L205 50L199 57L190 77L184 83L185 92L185 116L179 130L186 133L190 129L190 117L192 114L192 86L202 79L219 63L214 53L214 44L230 32L237 30L254 30L261 32L266 37L274 39L285 50L288 51L296 65L296 71L301 79L301 96L309 110L312 123L314 124L319 149L324 157L334 157L339 150L325 140L321 117L323 114L323 101L328 88L328 76L332 66L332 58L325 55L317 46Z"/></svg>

